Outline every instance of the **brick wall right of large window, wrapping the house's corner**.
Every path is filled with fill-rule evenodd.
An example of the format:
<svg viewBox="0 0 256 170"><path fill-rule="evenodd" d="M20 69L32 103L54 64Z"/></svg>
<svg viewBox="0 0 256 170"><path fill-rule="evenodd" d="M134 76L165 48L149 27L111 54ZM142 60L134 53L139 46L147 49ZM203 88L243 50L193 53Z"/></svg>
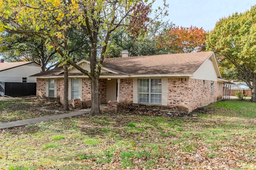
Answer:
<svg viewBox="0 0 256 170"><path fill-rule="evenodd" d="M168 107L173 111L192 111L222 99L222 86L214 82L214 93L211 94L211 81L189 78L168 79Z"/></svg>

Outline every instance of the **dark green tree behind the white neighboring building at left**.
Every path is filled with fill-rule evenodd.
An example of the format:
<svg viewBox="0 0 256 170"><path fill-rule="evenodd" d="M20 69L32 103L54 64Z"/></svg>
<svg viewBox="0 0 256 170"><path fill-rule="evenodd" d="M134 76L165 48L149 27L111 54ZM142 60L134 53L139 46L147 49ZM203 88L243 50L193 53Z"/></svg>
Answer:
<svg viewBox="0 0 256 170"><path fill-rule="evenodd" d="M0 54L5 61L36 61L41 65L41 71L46 70L46 65L54 63L57 51L48 51L44 39L34 34L5 33L0 39ZM51 64L50 68L58 65Z"/></svg>

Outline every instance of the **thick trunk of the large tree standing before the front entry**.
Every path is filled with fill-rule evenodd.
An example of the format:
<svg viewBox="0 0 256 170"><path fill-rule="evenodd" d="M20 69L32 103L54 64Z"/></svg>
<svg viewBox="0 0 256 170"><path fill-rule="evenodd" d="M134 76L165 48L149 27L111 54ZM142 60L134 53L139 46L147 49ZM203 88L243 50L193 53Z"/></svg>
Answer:
<svg viewBox="0 0 256 170"><path fill-rule="evenodd" d="M93 76L91 78L91 95L92 106L90 116L100 115L100 101L99 101L99 77Z"/></svg>

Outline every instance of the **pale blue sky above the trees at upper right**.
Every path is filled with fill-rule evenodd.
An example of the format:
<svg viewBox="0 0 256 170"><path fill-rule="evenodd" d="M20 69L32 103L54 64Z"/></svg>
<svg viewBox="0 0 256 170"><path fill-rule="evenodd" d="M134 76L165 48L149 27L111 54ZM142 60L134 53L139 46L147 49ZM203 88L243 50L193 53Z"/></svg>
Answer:
<svg viewBox="0 0 256 170"><path fill-rule="evenodd" d="M161 0L156 0L159 6ZM176 26L203 27L205 30L214 29L216 21L235 12L245 12L256 4L255 0L166 0L169 4L168 16Z"/></svg>

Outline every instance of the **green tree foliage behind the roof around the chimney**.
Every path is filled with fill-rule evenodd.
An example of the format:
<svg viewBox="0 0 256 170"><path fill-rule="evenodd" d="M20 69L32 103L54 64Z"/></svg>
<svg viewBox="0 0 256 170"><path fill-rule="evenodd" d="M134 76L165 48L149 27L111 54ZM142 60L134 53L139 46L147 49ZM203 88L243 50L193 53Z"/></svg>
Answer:
<svg viewBox="0 0 256 170"><path fill-rule="evenodd" d="M106 57L121 57L122 50L128 50L129 56L146 56L166 54L157 47L156 38L159 34L170 29L174 24L169 21L152 21L144 35L138 37L131 35L128 29L117 29L110 37L110 44L107 47Z"/></svg>

